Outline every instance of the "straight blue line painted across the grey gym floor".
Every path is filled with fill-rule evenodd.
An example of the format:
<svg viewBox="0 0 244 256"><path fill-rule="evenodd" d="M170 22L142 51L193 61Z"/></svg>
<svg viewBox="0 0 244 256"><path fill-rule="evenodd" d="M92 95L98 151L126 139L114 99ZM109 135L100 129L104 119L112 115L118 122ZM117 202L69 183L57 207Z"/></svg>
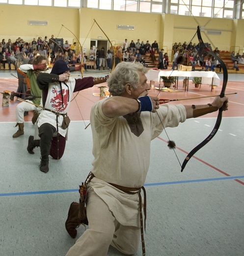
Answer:
<svg viewBox="0 0 244 256"><path fill-rule="evenodd" d="M181 183L193 183L193 182L205 182L205 181L234 180L234 179L243 179L243 178L244 178L244 175L243 176L228 176L228 177L222 177L222 178L202 179L202 180L169 181L169 182L145 184L144 187L173 185L173 184L181 184ZM29 195L29 194L50 194L50 193L69 193L69 192L78 192L78 191L79 191L78 189L73 189L73 190L50 190L50 191L0 193L0 196L15 196L15 195Z"/></svg>

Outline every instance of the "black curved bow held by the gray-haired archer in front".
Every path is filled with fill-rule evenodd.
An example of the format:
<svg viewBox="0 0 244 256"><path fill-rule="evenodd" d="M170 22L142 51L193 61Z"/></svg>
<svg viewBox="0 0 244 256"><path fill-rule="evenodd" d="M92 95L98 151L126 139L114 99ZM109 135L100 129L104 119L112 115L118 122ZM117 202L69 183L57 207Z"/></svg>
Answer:
<svg viewBox="0 0 244 256"><path fill-rule="evenodd" d="M198 41L200 43L200 47L202 47L204 51L206 51L207 53L209 53L210 55L215 57L219 61L220 65L221 65L221 67L223 69L223 85L222 85L222 89L221 89L221 92L220 92L220 97L223 97L224 93L225 93L226 86L227 86L227 81L228 81L228 71L227 71L226 65L224 64L224 62L216 54L214 54L212 51L210 51L209 48L206 47L206 45L204 44L204 42L202 40L199 26L197 27L197 37L198 37ZM188 163L190 158L198 150L200 150L203 146L205 146L215 136L215 134L217 133L218 128L220 127L220 124L221 124L222 112L223 112L223 109L221 107L218 110L217 121L216 121L215 127L213 128L211 133L208 135L208 137L204 141L202 141L199 145L197 145L194 149L192 149L190 151L190 153L187 155L187 157L185 158L184 162L182 163L181 172L183 172L183 170L186 167L186 164Z"/></svg>

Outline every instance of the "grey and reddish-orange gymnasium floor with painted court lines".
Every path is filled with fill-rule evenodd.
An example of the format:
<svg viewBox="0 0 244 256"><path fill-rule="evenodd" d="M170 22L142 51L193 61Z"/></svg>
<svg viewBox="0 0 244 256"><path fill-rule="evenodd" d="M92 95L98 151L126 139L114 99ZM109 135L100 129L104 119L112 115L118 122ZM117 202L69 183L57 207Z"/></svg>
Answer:
<svg viewBox="0 0 244 256"><path fill-rule="evenodd" d="M15 70L0 71L0 92L14 91ZM91 71L87 71L90 73ZM92 71L92 75L98 71ZM78 73L77 73L78 74ZM222 80L222 74L218 74ZM79 77L78 77L79 78ZM185 170L167 148L163 132L152 141L151 163L146 180L147 225L144 234L147 256L243 256L244 255L244 74L230 74L226 94L229 110L216 136L198 151ZM149 82L149 81L148 81ZM162 92L160 98L218 95L208 85L189 92ZM65 230L69 205L79 200L79 184L93 160L90 107L100 99L94 87L72 101L72 122L61 160L50 158L47 174L39 171L40 150L27 153L28 136L35 126L32 113L25 117L25 134L12 138L17 130L15 107L10 101L1 107L0 98L0 256L65 256L75 243ZM151 89L151 95L158 91ZM172 101L170 104L205 104L213 98ZM176 142L180 163L188 152L209 135L217 112L187 120L178 128L167 128ZM84 121L83 121L84 120ZM112 161L105 159L105 161ZM78 236L84 227L78 228ZM141 256L141 247L136 256ZM110 248L108 256L121 256Z"/></svg>

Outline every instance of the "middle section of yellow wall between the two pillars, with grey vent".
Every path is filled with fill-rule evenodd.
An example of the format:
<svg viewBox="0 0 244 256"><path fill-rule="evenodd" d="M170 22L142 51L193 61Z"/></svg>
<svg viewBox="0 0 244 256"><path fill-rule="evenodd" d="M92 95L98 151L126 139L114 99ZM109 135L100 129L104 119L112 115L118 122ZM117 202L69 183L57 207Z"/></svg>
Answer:
<svg viewBox="0 0 244 256"><path fill-rule="evenodd" d="M88 34L84 43L87 49L89 49L90 46L90 39L107 40L107 37L100 30L98 25L96 23L93 25L94 19L113 44L115 42L117 45L123 46L126 38L129 44L131 40L134 40L136 43L137 39L140 39L140 42L144 41L144 43L146 43L147 40L149 40L150 43L155 40L159 41L160 14L139 14L136 12L94 10L90 8L81 8L80 13L80 34L83 35L81 42L84 42ZM135 26L135 30L117 30L117 25L133 25ZM92 30L90 31L91 26ZM102 36L102 38L98 38L98 36Z"/></svg>

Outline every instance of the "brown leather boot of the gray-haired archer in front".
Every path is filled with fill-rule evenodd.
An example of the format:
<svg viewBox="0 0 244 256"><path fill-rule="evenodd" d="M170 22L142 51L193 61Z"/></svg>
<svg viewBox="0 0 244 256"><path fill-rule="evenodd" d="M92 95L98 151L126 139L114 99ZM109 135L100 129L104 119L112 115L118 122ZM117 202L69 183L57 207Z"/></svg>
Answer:
<svg viewBox="0 0 244 256"><path fill-rule="evenodd" d="M83 221L79 218L79 203L73 202L70 205L68 218L65 222L65 228L72 238L77 236L77 228L82 225L88 225L88 220L85 218Z"/></svg>

